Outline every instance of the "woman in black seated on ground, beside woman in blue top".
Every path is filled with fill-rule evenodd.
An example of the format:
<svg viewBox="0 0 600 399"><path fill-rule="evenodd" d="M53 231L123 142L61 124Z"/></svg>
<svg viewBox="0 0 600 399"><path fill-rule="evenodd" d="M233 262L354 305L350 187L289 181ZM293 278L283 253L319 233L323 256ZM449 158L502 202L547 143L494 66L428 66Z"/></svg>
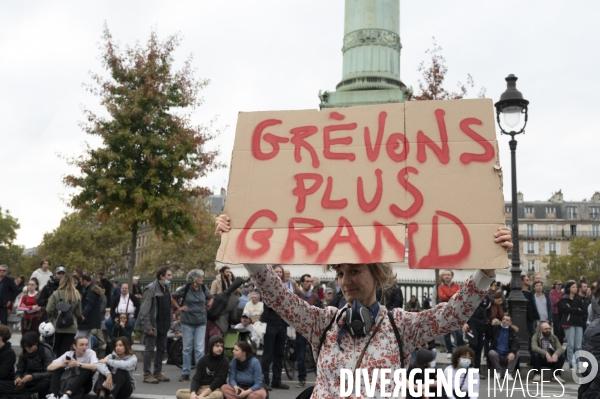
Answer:
<svg viewBox="0 0 600 399"><path fill-rule="evenodd" d="M229 361L222 337L211 337L208 353L200 359L190 389L180 389L177 399L222 399L221 386L227 382Z"/></svg>

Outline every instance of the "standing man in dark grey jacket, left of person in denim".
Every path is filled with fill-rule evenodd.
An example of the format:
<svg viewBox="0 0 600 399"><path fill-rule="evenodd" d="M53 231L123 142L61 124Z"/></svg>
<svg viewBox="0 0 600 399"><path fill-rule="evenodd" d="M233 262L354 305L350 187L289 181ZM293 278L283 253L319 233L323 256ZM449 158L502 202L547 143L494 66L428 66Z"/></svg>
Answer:
<svg viewBox="0 0 600 399"><path fill-rule="evenodd" d="M144 382L158 384L169 382L169 378L162 372L162 360L167 350L167 333L173 320L171 307L171 292L169 284L173 272L163 266L156 272L156 280L144 288L144 295L140 305L138 318L135 321L135 331L144 335ZM154 373L151 372L152 354L154 356Z"/></svg>

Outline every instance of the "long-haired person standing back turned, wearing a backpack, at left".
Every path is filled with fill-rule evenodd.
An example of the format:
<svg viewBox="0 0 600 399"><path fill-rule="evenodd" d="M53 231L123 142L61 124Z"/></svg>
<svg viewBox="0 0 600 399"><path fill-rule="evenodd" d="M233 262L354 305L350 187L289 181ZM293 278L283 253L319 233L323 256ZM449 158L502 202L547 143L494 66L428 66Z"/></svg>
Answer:
<svg viewBox="0 0 600 399"><path fill-rule="evenodd" d="M81 317L81 296L75 288L75 279L65 275L52 293L46 313L54 324L54 353L65 353L77 333L77 319Z"/></svg>

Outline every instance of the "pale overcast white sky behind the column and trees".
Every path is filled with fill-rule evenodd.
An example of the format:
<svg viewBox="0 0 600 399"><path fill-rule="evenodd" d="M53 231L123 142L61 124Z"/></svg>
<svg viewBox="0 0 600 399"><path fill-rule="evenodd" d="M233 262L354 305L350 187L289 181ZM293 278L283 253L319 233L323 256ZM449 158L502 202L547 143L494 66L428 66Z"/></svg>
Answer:
<svg viewBox="0 0 600 399"><path fill-rule="evenodd" d="M102 72L98 44L107 22L122 44L181 32L179 61L194 55L211 80L194 118L229 126L215 145L229 162L239 111L318 108L319 90L342 75L341 0L28 1L0 6L0 206L19 219L17 242L37 246L69 208L59 153L76 155L88 137L82 106L98 109L82 87ZM600 2L402 1L401 79L418 87L417 67L435 36L449 68L446 87L473 75L497 101L509 73L530 101L518 138L519 190L526 200L566 200L600 190L597 120ZM499 137L510 172L508 137ZM227 187L228 170L202 183ZM504 182L510 199L510 181Z"/></svg>

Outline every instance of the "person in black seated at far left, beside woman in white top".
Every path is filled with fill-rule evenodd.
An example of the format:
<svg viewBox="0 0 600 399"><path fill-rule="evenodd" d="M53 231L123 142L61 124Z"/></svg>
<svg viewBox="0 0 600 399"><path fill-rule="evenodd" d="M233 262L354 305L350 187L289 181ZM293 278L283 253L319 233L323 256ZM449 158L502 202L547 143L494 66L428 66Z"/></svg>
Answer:
<svg viewBox="0 0 600 399"><path fill-rule="evenodd" d="M5 326L0 326L5 327ZM6 336L6 333L1 334ZM9 343L5 343L4 347ZM3 347L3 348L4 348ZM17 363L17 372L14 373L14 380L0 380L0 393L9 398L29 399L38 394L43 398L48 393L50 387L50 373L46 370L54 354L49 345L40 342L39 336L33 331L29 331L21 338L22 352L19 355ZM14 356L14 352L13 352ZM2 368L5 367L3 359ZM13 361L8 363L8 366L14 368Z"/></svg>

